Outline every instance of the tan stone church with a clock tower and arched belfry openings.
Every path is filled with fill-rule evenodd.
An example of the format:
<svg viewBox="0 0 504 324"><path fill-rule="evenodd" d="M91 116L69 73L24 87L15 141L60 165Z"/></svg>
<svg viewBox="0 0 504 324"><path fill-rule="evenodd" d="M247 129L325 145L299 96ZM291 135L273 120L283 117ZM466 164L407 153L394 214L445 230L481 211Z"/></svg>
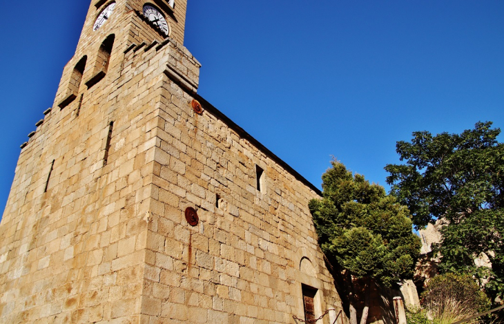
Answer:
<svg viewBox="0 0 504 324"><path fill-rule="evenodd" d="M21 145L1 323L347 323L320 191L197 94L185 18L186 0L90 3Z"/></svg>

